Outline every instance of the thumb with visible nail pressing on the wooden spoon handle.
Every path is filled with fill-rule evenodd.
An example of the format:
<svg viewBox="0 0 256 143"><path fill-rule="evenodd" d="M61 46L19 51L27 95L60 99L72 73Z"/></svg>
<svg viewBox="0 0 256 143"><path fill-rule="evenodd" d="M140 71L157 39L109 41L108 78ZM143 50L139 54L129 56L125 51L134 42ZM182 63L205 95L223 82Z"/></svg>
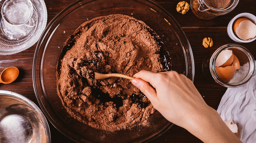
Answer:
<svg viewBox="0 0 256 143"><path fill-rule="evenodd" d="M132 84L139 88L139 90L144 93L150 102L157 100L157 91L148 82L142 79L135 78L132 80Z"/></svg>

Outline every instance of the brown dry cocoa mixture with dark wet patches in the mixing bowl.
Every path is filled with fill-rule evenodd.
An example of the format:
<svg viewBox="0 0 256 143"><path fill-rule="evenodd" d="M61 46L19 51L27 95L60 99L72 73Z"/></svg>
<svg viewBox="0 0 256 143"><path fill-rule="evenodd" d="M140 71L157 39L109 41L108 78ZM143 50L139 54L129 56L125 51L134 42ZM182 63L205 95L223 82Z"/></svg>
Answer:
<svg viewBox="0 0 256 143"><path fill-rule="evenodd" d="M68 113L109 131L147 119L155 109L130 80L95 80L94 72L164 71L159 42L150 27L130 16L102 16L80 25L66 40L57 65L57 92Z"/></svg>

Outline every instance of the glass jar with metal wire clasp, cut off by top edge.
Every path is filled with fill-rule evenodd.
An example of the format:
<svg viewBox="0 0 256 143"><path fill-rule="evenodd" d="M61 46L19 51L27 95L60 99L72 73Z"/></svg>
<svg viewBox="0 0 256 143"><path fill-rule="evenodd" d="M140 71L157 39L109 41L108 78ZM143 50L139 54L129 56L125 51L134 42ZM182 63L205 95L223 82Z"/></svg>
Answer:
<svg viewBox="0 0 256 143"><path fill-rule="evenodd" d="M200 19L211 20L232 11L239 0L190 0L193 13Z"/></svg>

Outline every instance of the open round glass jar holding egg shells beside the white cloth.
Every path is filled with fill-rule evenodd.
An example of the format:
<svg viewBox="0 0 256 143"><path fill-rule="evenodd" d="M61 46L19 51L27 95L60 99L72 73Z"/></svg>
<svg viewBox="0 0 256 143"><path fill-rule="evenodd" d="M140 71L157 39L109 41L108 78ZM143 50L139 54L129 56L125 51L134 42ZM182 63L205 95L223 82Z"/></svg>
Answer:
<svg viewBox="0 0 256 143"><path fill-rule="evenodd" d="M216 72L215 62L218 55L223 50L232 50L233 54L237 56L240 62L240 69L238 69L231 80L224 82L220 79ZM240 87L247 83L254 72L255 63L251 53L243 46L238 44L226 44L218 48L215 52L207 55L203 60L203 73L211 81L219 83L224 87Z"/></svg>

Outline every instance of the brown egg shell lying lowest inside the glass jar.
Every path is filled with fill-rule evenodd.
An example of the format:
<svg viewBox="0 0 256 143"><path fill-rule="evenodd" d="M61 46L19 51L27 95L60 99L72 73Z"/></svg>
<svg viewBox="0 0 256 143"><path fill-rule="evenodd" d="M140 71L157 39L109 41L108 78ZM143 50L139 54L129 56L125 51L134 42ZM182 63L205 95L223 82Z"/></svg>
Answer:
<svg viewBox="0 0 256 143"><path fill-rule="evenodd" d="M227 82L233 77L236 68L234 63L232 63L232 65L226 67L216 67L216 72L221 80Z"/></svg>

